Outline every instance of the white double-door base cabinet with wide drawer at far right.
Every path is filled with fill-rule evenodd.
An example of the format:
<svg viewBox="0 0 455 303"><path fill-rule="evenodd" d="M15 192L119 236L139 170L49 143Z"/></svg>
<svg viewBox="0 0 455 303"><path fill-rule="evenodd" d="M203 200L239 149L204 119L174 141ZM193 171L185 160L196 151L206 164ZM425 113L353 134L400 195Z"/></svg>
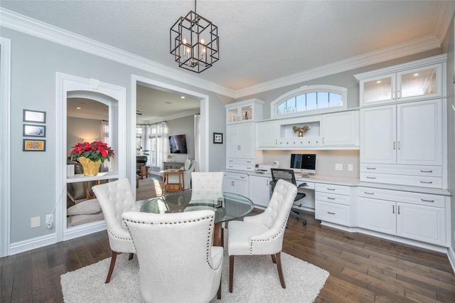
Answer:
<svg viewBox="0 0 455 303"><path fill-rule="evenodd" d="M358 227L446 246L446 196L358 188Z"/></svg>

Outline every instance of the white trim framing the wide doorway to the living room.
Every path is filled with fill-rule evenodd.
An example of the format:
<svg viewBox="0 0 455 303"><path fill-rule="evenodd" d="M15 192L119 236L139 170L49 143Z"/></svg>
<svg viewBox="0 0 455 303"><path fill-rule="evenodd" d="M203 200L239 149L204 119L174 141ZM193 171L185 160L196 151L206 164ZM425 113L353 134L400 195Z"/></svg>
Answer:
<svg viewBox="0 0 455 303"><path fill-rule="evenodd" d="M132 75L132 110L131 110L131 121L132 125L130 125L131 129L129 129L129 134L132 134L130 146L135 146L135 128L136 128L136 110L137 110L137 85L138 83L145 83L147 85L151 85L156 87L157 90L171 90L173 92L182 93L184 95L191 95L200 99L200 159L195 159L198 161L200 171L207 171L208 164L209 164L209 157L208 157L208 112L209 112L209 97L208 95L201 94L200 92L195 92L194 90L187 90L182 87L178 87L176 85L171 85L164 82L159 82L156 80L151 80L149 78L144 78L139 75ZM134 151L134 150L132 150ZM130 156L130 163L129 167L136 167L136 157L132 153L132 151L128 151ZM136 180L136 170L132 169L130 172L131 180Z"/></svg>

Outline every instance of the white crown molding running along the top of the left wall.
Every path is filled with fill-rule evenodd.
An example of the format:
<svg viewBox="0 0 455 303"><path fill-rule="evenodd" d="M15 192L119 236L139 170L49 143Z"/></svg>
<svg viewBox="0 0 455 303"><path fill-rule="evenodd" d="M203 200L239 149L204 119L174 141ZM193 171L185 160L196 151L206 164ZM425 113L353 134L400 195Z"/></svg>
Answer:
<svg viewBox="0 0 455 303"><path fill-rule="evenodd" d="M36 36L38 38L43 38L63 46L82 50L85 53L107 58L118 63L132 66L133 68L138 68L181 83L193 85L202 88L203 90L216 92L220 95L226 95L228 97L233 97L235 95L234 90L230 90L227 87L197 78L193 75L188 75L180 70L168 68L167 66L152 60L139 57L138 55L128 53L119 48L108 46L105 43L100 43L33 18L17 14L8 9L0 8L0 26L20 31L21 33L27 33L28 35Z"/></svg>

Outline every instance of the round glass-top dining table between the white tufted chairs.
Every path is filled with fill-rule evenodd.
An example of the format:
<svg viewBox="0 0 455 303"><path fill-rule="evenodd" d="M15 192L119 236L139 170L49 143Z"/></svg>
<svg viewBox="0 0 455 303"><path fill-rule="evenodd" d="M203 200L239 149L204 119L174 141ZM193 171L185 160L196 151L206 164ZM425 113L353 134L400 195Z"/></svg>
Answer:
<svg viewBox="0 0 455 303"><path fill-rule="evenodd" d="M237 193L223 191L182 191L164 193L164 196L137 201L144 213L181 213L210 209L215 212L213 245L223 246L222 223L250 213L254 204Z"/></svg>

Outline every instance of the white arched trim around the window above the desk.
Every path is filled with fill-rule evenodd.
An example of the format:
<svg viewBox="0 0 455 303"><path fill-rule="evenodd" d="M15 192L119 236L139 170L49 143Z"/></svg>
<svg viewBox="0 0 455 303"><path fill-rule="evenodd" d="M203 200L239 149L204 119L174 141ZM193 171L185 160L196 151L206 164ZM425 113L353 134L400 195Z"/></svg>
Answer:
<svg viewBox="0 0 455 303"><path fill-rule="evenodd" d="M288 114L278 114L277 108L278 105L286 100L289 100L291 97L296 97L298 95L304 95L309 92L333 92L341 95L342 105L339 107L328 107L320 110L309 110L304 112L291 112ZM336 85L304 85L295 90L284 93L283 95L277 97L274 101L270 103L270 118L278 117L300 117L300 116L309 116L315 114L321 114L326 112L340 112L342 110L348 109L348 89L346 87L336 86Z"/></svg>

